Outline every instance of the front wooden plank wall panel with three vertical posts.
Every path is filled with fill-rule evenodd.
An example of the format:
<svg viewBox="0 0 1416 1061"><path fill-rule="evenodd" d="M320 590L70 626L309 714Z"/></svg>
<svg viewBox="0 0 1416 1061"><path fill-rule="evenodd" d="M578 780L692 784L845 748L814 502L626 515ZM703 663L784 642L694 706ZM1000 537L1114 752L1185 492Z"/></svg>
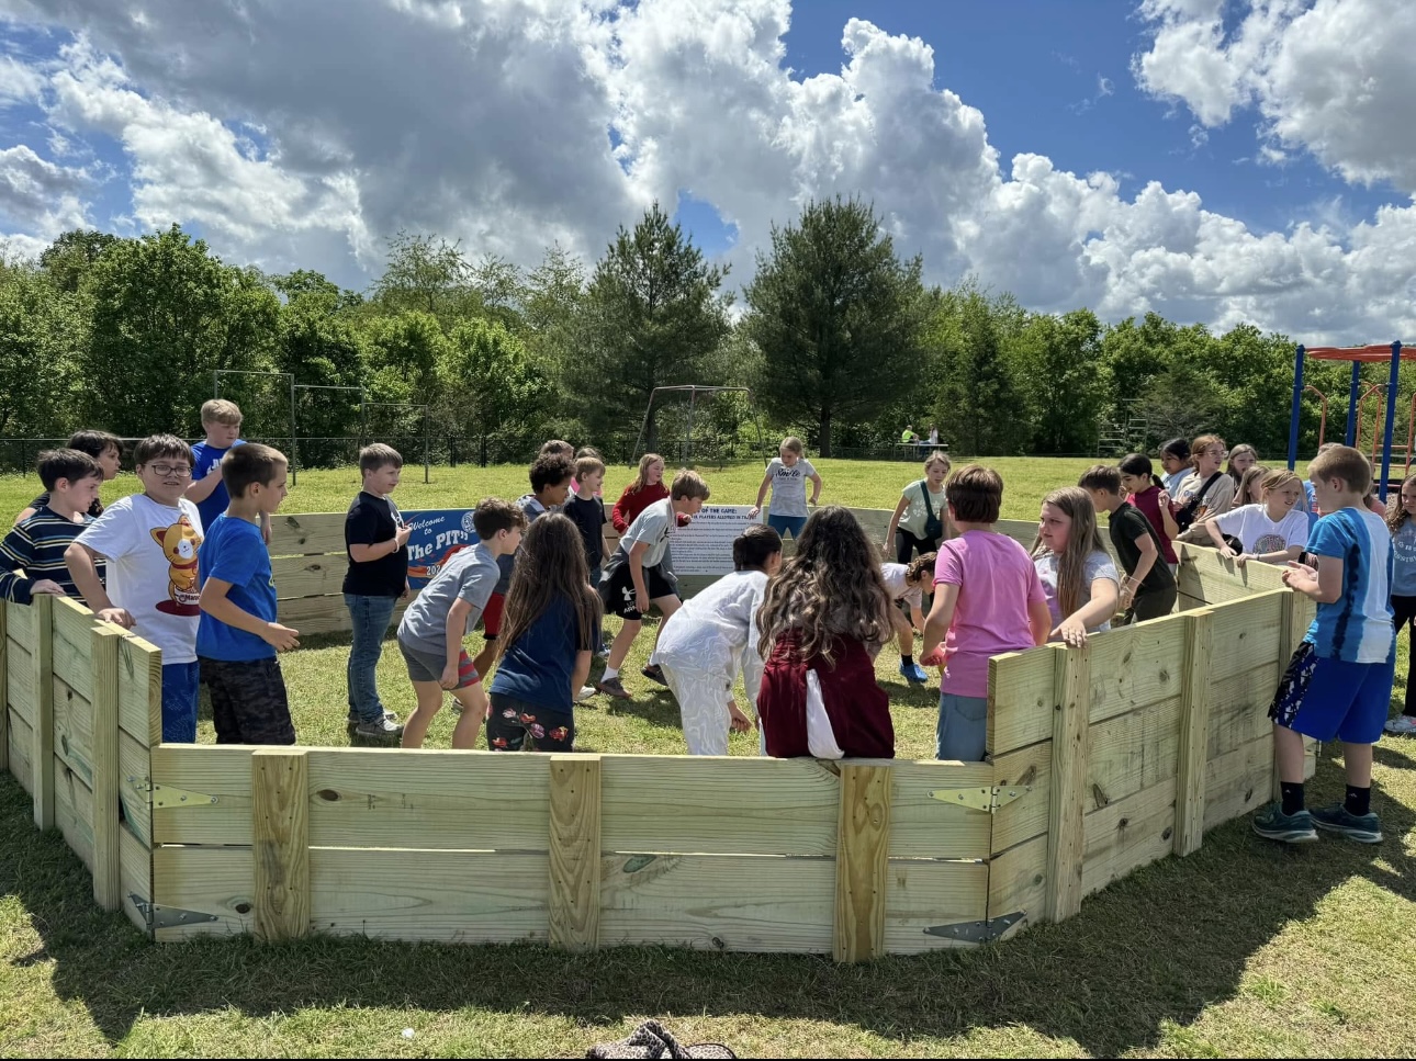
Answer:
<svg viewBox="0 0 1416 1061"><path fill-rule="evenodd" d="M262 763L295 754L303 825L282 788L302 771ZM159 939L285 937L300 934L299 917L303 931L385 939L855 961L959 946L926 929L988 910L991 818L930 794L984 789L990 764L283 755L154 750L160 785L218 799L154 811L157 904L195 915L159 928ZM302 829L304 845L292 840Z"/></svg>

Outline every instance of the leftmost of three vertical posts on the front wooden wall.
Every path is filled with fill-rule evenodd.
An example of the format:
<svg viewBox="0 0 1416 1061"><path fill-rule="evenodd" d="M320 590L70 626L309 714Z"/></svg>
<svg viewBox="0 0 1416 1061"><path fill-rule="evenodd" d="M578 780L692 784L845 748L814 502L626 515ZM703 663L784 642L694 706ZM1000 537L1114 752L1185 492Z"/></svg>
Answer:
<svg viewBox="0 0 1416 1061"><path fill-rule="evenodd" d="M255 927L268 942L310 931L309 778L304 748L251 753Z"/></svg>

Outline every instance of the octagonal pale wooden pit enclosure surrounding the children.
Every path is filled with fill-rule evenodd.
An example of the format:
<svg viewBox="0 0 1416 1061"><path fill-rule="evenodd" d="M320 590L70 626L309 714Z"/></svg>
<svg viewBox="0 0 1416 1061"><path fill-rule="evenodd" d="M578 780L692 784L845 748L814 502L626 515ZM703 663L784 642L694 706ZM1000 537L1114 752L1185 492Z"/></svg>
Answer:
<svg viewBox="0 0 1416 1061"><path fill-rule="evenodd" d="M340 519L276 521L272 555ZM157 649L40 597L0 605L0 765L157 941L978 946L1269 798L1264 706L1311 604L1189 546L1180 589L1175 615L990 661L986 763L161 744Z"/></svg>

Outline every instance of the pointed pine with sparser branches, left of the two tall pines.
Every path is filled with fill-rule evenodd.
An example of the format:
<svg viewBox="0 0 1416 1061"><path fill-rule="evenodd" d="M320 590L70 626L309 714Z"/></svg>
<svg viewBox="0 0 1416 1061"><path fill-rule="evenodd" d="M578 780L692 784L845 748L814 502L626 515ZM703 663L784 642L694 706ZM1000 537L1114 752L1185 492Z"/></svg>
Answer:
<svg viewBox="0 0 1416 1061"><path fill-rule="evenodd" d="M586 423L632 431L654 388L715 383L714 352L729 331L725 269L702 252L656 202L634 231L623 226L595 266L581 303L578 352L565 382L581 396ZM649 446L657 444L649 417Z"/></svg>

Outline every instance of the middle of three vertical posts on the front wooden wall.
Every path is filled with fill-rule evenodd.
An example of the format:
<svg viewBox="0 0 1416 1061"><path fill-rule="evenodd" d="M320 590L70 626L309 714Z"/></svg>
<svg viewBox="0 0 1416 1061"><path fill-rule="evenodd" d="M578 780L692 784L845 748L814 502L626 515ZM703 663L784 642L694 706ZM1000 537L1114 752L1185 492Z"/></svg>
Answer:
<svg viewBox="0 0 1416 1061"><path fill-rule="evenodd" d="M600 938L600 757L551 755L551 946Z"/></svg>

